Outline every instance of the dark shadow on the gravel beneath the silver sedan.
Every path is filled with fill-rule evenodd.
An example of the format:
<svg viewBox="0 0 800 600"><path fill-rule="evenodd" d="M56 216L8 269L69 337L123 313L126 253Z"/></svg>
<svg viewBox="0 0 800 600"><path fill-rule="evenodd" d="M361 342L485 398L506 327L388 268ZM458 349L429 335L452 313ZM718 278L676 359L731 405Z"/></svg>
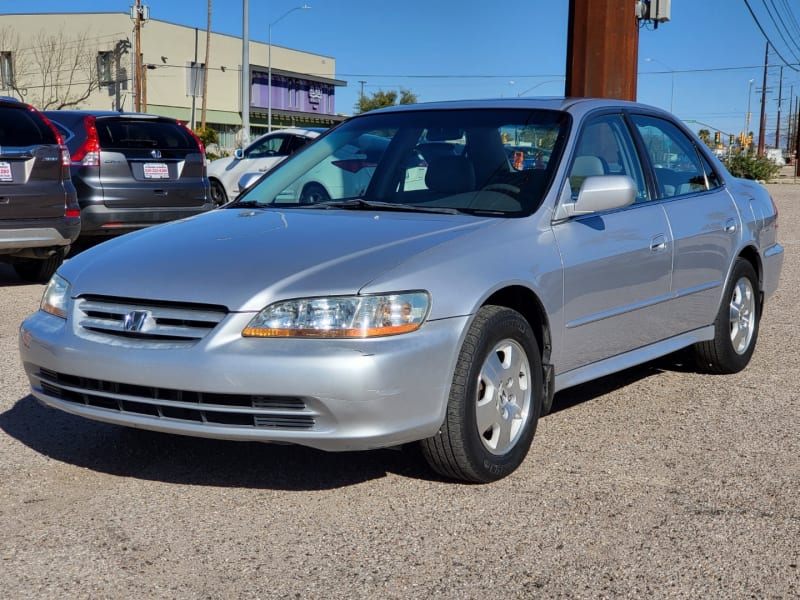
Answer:
<svg viewBox="0 0 800 600"><path fill-rule="evenodd" d="M599 399L663 370L681 368L674 355L570 388L556 395L552 412ZM0 430L64 463L165 483L307 491L355 485L389 473L444 481L426 465L417 444L323 452L296 445L170 435L84 419L45 407L30 395L0 414Z"/></svg>

